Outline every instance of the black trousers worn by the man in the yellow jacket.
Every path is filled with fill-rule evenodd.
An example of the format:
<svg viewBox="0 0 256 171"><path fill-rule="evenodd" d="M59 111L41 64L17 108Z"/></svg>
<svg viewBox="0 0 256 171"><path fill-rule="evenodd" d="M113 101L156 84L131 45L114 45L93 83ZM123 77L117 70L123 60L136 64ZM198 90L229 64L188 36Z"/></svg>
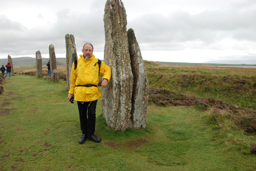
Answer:
<svg viewBox="0 0 256 171"><path fill-rule="evenodd" d="M98 100L89 102L77 101L81 131L83 134L87 135L87 137L94 135L95 132L97 101Z"/></svg>

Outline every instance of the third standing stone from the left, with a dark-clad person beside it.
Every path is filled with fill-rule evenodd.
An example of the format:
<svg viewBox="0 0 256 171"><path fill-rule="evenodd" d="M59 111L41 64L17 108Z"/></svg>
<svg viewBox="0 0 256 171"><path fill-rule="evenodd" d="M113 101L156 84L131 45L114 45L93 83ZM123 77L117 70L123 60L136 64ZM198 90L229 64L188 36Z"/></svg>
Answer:
<svg viewBox="0 0 256 171"><path fill-rule="evenodd" d="M55 50L54 50L53 44L50 44L49 46L49 54L50 54L51 80L59 81L56 56L55 56Z"/></svg>

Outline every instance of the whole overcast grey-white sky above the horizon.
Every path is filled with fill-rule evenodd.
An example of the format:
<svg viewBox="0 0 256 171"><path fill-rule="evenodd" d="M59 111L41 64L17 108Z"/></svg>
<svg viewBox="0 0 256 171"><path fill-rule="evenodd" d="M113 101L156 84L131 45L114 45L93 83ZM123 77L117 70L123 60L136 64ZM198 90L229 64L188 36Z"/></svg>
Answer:
<svg viewBox="0 0 256 171"><path fill-rule="evenodd" d="M144 60L207 62L256 58L256 0L122 0ZM65 35L104 57L106 0L1 0L0 58L65 57Z"/></svg>

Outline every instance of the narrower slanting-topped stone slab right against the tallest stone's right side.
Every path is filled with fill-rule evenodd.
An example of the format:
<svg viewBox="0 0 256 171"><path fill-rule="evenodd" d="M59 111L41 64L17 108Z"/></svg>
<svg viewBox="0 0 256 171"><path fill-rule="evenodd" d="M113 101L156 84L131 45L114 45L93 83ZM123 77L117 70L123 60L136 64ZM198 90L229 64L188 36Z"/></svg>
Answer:
<svg viewBox="0 0 256 171"><path fill-rule="evenodd" d="M131 97L131 128L146 128L147 103L149 85L146 68L136 40L134 30L128 29L128 44L131 57L131 70L133 73L133 91Z"/></svg>

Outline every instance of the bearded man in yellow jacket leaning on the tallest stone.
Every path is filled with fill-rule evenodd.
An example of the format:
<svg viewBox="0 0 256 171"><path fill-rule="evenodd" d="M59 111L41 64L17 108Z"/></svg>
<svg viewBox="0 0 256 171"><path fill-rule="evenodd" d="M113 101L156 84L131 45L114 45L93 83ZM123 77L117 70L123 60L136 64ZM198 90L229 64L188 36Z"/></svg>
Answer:
<svg viewBox="0 0 256 171"><path fill-rule="evenodd" d="M80 55L80 58L77 59L76 68L73 62L70 76L71 85L68 91L68 100L74 97L78 105L80 128L82 131L82 136L79 139L80 144L83 144L87 138L94 142L101 142L101 139L94 135L96 105L97 100L101 98L101 91L97 87L98 76L104 76L101 83L102 88L107 87L107 83L111 78L110 67L101 62L99 68L98 59L92 53L92 44L84 44L83 55Z"/></svg>

